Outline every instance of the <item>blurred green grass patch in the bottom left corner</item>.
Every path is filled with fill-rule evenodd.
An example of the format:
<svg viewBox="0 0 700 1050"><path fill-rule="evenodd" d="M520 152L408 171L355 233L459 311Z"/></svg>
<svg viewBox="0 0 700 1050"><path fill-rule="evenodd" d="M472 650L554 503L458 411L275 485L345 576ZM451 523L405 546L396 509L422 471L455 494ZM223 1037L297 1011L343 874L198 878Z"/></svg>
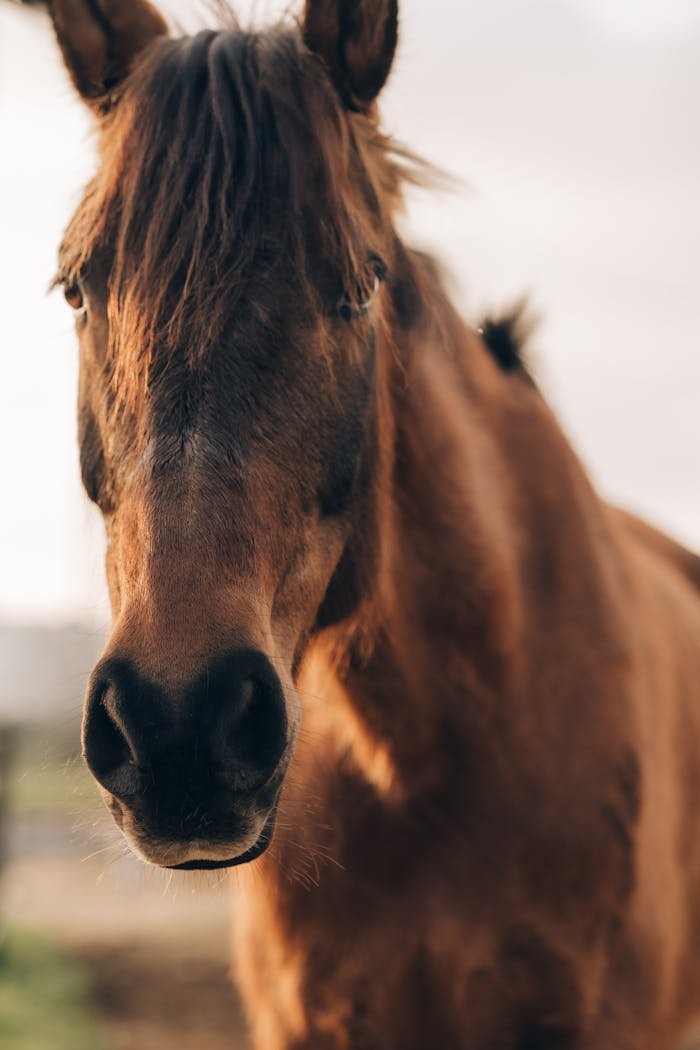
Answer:
<svg viewBox="0 0 700 1050"><path fill-rule="evenodd" d="M82 967L35 933L0 943L0 1050L104 1050Z"/></svg>

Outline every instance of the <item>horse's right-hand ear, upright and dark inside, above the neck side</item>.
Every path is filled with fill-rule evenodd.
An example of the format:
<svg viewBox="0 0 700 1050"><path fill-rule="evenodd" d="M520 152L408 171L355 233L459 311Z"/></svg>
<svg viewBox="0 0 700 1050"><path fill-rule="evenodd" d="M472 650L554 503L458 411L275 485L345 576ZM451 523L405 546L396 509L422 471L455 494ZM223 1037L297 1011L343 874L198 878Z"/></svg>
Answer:
<svg viewBox="0 0 700 1050"><path fill-rule="evenodd" d="M397 46L398 7L398 0L306 0L306 46L324 60L351 109L367 109L386 82Z"/></svg>

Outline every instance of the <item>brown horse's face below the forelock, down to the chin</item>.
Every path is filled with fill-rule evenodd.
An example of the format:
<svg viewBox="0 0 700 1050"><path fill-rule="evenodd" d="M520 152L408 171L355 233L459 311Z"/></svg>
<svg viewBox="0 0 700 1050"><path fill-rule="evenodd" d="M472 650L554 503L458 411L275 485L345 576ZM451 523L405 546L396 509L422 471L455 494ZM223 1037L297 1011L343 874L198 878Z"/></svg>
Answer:
<svg viewBox="0 0 700 1050"><path fill-rule="evenodd" d="M199 390L168 371L147 404L115 417L99 363L105 291L91 276L84 287L81 463L106 524L113 613L85 755L149 860L252 859L299 723L295 672L333 614L367 497L370 345L362 368L332 376L300 318L268 366L267 328L241 318Z"/></svg>

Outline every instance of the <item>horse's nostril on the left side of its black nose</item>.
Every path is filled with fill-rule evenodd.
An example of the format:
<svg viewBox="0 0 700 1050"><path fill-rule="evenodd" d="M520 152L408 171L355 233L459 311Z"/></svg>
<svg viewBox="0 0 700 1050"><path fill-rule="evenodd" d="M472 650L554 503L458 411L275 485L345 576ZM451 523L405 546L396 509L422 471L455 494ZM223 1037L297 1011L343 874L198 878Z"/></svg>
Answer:
<svg viewBox="0 0 700 1050"><path fill-rule="evenodd" d="M112 795L125 798L136 792L139 771L126 732L110 713L114 688L107 685L93 692L85 717L83 751L94 778Z"/></svg>

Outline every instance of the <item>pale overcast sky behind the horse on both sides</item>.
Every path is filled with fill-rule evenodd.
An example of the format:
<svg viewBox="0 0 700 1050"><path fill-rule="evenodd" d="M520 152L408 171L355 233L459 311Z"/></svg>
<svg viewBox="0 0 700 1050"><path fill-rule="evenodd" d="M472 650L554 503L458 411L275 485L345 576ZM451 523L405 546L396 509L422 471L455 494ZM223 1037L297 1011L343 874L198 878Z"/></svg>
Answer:
<svg viewBox="0 0 700 1050"><path fill-rule="evenodd" d="M194 2L162 6L207 22ZM599 489L700 547L700 4L401 12L384 126L462 181L411 194L405 237L446 261L470 320L529 294L540 386ZM90 121L47 23L5 0L0 158L0 622L100 625L72 321L46 294L92 168Z"/></svg>

